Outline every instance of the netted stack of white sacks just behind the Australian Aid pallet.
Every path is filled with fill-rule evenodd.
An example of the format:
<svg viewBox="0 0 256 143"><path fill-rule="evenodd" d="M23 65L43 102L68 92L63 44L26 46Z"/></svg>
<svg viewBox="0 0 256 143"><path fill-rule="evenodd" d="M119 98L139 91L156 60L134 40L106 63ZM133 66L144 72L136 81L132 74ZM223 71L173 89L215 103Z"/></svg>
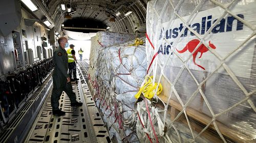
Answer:
<svg viewBox="0 0 256 143"><path fill-rule="evenodd" d="M105 110L106 107L102 107L104 112L103 120L108 124L108 127L111 127L110 135L115 135L118 142L121 142L124 137L135 130L137 115L134 112L134 103L136 101L134 95L138 92L146 75L145 47L105 47L100 51L99 55L98 82L103 83L100 89L105 91L114 89L114 91L104 92L104 94L110 94L104 96L110 102L117 101L119 103L118 111L122 114L124 131L118 133L118 122L114 123L116 117L110 116L111 110L115 109L114 106L110 107L111 110ZM127 140L134 141L137 140L137 137L133 134Z"/></svg>

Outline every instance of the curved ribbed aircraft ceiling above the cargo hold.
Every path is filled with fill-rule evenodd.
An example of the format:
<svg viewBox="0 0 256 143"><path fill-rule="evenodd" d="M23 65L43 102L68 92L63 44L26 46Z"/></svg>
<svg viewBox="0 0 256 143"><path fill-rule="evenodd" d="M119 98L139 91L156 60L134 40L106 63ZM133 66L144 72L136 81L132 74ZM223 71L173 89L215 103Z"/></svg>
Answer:
<svg viewBox="0 0 256 143"><path fill-rule="evenodd" d="M39 6L34 14L41 19L50 19L57 32L62 28L79 27L76 32L96 32L98 28L113 32L144 33L147 0L32 0ZM61 9L65 4L66 10ZM67 11L68 4L71 11ZM69 7L69 6L68 6ZM130 15L124 14L132 11ZM116 15L117 13L120 15ZM52 28L52 27L50 27ZM93 28L95 31L88 31ZM73 28L74 30L75 28ZM71 30L72 31L72 30Z"/></svg>

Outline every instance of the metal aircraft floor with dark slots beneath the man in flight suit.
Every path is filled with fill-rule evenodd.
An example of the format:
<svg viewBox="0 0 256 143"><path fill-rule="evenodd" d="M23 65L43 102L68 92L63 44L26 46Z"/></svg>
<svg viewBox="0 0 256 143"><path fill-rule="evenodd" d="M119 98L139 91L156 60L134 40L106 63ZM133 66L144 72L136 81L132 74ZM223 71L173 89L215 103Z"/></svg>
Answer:
<svg viewBox="0 0 256 143"><path fill-rule="evenodd" d="M72 86L77 101L83 106L71 107L69 97L63 92L59 108L66 115L54 116L50 91L25 142L112 142L85 80L89 65L86 61L79 61L78 65L80 80L72 82Z"/></svg>

